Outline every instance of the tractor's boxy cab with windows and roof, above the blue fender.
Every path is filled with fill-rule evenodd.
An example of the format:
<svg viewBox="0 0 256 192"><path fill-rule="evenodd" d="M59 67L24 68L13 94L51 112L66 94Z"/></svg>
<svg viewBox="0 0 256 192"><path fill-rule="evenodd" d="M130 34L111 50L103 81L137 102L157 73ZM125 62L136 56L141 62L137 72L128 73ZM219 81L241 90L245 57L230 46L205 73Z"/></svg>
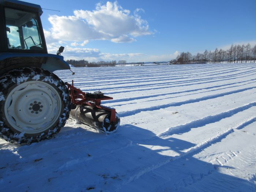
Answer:
<svg viewBox="0 0 256 192"><path fill-rule="evenodd" d="M42 9L20 1L0 0L2 51L47 53L40 15Z"/></svg>

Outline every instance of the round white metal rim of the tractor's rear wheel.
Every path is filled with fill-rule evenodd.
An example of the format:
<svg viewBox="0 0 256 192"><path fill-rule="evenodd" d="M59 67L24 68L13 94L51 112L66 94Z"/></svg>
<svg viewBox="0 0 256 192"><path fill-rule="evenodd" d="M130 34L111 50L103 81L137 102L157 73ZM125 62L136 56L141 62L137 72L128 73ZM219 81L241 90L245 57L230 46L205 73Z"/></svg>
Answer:
<svg viewBox="0 0 256 192"><path fill-rule="evenodd" d="M29 81L16 86L4 106L8 123L20 132L35 134L51 128L61 113L61 98L50 84Z"/></svg>

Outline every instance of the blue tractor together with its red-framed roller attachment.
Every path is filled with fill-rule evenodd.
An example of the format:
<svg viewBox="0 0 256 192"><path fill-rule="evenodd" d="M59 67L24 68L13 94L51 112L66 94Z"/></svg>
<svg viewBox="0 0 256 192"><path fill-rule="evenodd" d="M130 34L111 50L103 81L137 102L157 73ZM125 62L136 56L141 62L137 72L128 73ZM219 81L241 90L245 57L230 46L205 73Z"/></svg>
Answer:
<svg viewBox="0 0 256 192"><path fill-rule="evenodd" d="M115 109L101 105L113 99L84 93L53 72L70 69L64 47L47 52L40 5L0 0L0 138L30 144L50 139L71 118L101 132L120 124Z"/></svg>

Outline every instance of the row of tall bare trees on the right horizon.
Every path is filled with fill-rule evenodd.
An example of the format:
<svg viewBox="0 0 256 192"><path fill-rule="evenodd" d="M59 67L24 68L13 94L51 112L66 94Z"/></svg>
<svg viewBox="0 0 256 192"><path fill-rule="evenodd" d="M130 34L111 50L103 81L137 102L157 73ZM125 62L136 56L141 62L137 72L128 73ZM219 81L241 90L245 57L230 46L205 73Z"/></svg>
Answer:
<svg viewBox="0 0 256 192"><path fill-rule="evenodd" d="M193 64L193 63L248 63L256 60L256 45L231 45L227 50L216 48L215 51L205 50L204 53L182 52L176 59L171 60L172 64Z"/></svg>

